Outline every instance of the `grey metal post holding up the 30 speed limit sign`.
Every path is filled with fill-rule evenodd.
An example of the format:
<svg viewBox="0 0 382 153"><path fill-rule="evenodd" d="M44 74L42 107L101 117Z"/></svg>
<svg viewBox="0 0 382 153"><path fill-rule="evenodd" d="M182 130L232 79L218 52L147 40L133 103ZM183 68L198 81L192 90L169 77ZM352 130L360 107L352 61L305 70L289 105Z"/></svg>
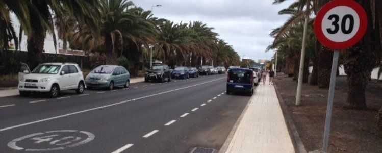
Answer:
<svg viewBox="0 0 382 153"><path fill-rule="evenodd" d="M334 97L334 89L336 86L336 73L337 73L339 53L340 53L339 50L335 50L334 54L333 54L332 73L330 74L329 94L327 96L324 142L323 142L323 146L322 146L322 151L324 153L328 152L329 134L330 134L330 120L332 120L333 97Z"/></svg>

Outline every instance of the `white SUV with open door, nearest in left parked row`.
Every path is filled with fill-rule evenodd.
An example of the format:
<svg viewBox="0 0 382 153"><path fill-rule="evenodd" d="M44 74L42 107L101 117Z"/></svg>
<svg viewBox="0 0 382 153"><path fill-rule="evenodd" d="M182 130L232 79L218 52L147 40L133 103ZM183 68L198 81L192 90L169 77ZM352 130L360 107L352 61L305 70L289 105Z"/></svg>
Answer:
<svg viewBox="0 0 382 153"><path fill-rule="evenodd" d="M18 74L18 90L21 96L32 92L49 92L57 97L62 90L72 90L82 94L85 90L84 75L74 63L44 63L32 72L27 64L21 63Z"/></svg>

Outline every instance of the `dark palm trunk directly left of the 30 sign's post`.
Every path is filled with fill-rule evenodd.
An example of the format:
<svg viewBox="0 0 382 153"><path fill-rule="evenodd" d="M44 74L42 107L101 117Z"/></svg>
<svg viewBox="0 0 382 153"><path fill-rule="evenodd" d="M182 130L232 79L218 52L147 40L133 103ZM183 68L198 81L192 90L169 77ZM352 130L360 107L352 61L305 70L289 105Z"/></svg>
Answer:
<svg viewBox="0 0 382 153"><path fill-rule="evenodd" d="M333 50L322 47L318 54L318 87L329 89L330 72L332 71Z"/></svg>

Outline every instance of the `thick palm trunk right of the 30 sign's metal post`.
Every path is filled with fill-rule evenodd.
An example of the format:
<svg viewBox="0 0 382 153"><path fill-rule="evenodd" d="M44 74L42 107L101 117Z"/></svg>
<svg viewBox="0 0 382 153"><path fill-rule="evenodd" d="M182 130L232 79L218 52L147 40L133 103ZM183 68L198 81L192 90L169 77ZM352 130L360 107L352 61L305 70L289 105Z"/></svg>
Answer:
<svg viewBox="0 0 382 153"><path fill-rule="evenodd" d="M369 1L360 1L368 15L369 23L364 38L356 46L347 50L345 55L345 72L347 74L347 105L350 109L366 109L365 89L376 66L377 52L380 52L379 32L373 29L373 20Z"/></svg>

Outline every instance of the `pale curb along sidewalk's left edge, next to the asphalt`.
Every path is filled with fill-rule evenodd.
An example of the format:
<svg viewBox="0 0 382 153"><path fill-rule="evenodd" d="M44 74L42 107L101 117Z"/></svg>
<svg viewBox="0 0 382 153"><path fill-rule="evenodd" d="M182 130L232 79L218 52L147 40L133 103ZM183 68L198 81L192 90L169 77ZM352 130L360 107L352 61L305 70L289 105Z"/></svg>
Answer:
<svg viewBox="0 0 382 153"><path fill-rule="evenodd" d="M220 150L219 150L219 153L224 153L224 152L227 151L228 146L230 146L230 143L231 143L231 141L232 141L232 138L234 138L234 135L235 135L235 133L236 133L236 130L238 129L239 124L240 124L241 120L243 119L245 112L247 112L248 107L249 107L249 105L251 104L251 101L252 101L252 99L254 98L254 96L256 96L256 95L253 94L253 95L251 96L251 98L248 100L248 103L247 103L247 105L245 106L243 112L241 112L241 114L240 114L238 120L236 121L234 127L232 127L232 130L231 130L230 134L228 134L227 139L225 139L225 142L224 142L223 145L221 146L221 148L220 148Z"/></svg>

